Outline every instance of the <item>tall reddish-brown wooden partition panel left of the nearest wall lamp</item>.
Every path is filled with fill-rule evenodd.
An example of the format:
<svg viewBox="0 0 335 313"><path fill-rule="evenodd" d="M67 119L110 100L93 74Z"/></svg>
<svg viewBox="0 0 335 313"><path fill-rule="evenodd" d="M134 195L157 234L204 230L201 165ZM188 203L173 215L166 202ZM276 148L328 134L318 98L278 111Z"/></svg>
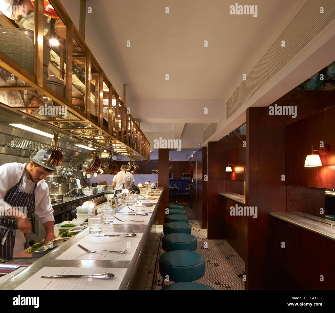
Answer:
<svg viewBox="0 0 335 313"><path fill-rule="evenodd" d="M246 205L258 209L257 218L245 218L246 288L266 289L273 272L269 213L286 211L285 127L267 107L248 108L246 141Z"/></svg>

